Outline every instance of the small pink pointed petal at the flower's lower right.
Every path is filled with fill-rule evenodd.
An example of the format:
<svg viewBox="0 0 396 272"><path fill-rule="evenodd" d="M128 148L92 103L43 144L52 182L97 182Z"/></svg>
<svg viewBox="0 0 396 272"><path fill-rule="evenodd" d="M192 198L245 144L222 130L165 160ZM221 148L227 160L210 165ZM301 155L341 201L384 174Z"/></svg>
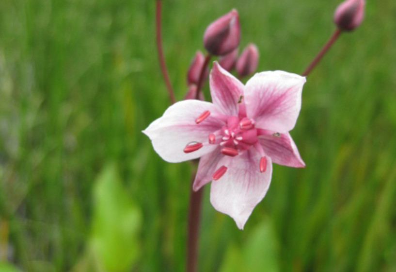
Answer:
<svg viewBox="0 0 396 272"><path fill-rule="evenodd" d="M265 135L258 136L258 141L264 152L271 157L272 162L289 167L305 167L296 144L290 134L273 136L275 132L266 131Z"/></svg>

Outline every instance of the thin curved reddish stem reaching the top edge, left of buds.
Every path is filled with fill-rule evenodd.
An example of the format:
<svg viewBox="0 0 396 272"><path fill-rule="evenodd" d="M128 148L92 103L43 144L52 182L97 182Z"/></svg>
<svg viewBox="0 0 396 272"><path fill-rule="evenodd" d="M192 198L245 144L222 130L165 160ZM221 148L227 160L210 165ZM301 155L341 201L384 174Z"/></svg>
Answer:
<svg viewBox="0 0 396 272"><path fill-rule="evenodd" d="M166 63L164 53L162 51L162 38L161 38L161 0L157 0L156 4L156 37L157 37L157 50L159 66L161 67L162 76L165 81L166 88L169 93L169 100L173 104L176 102L174 98L174 91L172 89L171 81L169 80L168 70L166 69Z"/></svg>

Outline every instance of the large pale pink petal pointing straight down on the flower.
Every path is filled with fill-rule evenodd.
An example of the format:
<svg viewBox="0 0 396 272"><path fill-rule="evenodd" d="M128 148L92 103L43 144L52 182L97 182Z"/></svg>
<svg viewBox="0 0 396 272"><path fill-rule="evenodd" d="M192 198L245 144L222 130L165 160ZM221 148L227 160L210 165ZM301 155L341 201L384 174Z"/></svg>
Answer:
<svg viewBox="0 0 396 272"><path fill-rule="evenodd" d="M218 168L228 169L210 188L210 202L213 207L231 216L239 229L243 229L254 207L266 195L272 175L271 159L267 158L267 170L259 170L260 154L250 149L240 155L224 157Z"/></svg>

